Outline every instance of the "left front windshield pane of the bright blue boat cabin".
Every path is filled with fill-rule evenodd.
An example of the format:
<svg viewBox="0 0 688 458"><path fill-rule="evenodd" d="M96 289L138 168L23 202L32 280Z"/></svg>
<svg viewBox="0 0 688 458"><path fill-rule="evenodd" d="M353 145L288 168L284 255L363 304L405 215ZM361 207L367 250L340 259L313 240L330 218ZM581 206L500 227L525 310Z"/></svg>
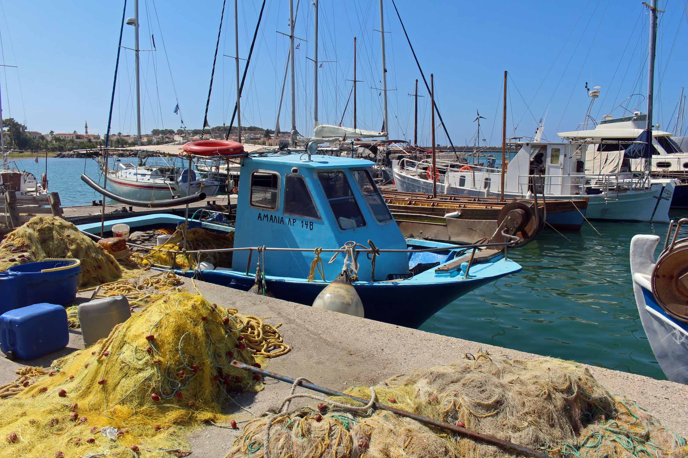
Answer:
<svg viewBox="0 0 688 458"><path fill-rule="evenodd" d="M344 172L341 170L321 172L318 178L339 227L347 230L365 226L365 219Z"/></svg>

